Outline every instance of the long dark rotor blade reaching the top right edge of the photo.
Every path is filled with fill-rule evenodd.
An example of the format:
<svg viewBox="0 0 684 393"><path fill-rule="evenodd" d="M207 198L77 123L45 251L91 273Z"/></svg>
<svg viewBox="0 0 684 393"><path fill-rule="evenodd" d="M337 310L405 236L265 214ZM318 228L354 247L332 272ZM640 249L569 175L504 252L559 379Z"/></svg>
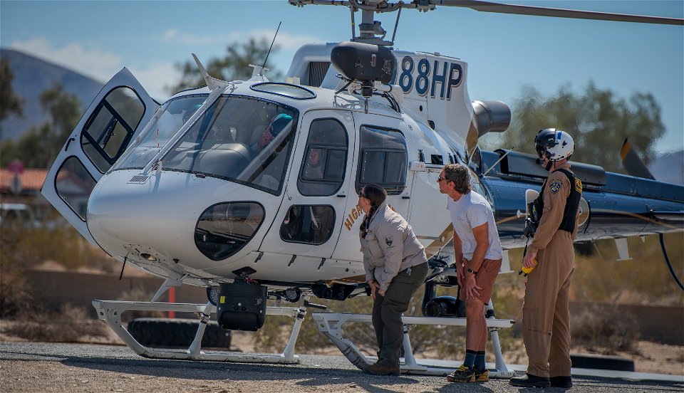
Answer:
<svg viewBox="0 0 684 393"><path fill-rule="evenodd" d="M517 14L534 16L555 16L556 18L596 19L599 21L619 21L636 23L656 23L684 26L684 19L665 18L662 16L641 16L628 14L611 14L608 12L576 11L572 9L553 9L537 6L520 6L516 4L499 4L478 0L430 0L435 6L455 6L474 9L475 11L496 12L499 14Z"/></svg>

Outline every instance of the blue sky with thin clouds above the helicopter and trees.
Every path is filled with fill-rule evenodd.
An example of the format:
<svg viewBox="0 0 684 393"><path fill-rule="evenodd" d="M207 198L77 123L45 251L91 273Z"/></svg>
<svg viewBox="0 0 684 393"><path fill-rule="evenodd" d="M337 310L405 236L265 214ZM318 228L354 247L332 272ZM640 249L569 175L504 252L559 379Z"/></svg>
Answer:
<svg viewBox="0 0 684 393"><path fill-rule="evenodd" d="M684 17L684 1L501 1L591 11ZM396 14L380 16L391 35ZM357 14L357 23L361 16ZM272 38L283 73L297 48L351 36L340 6L291 6L279 1L0 1L0 46L45 58L105 82L128 67L153 97L177 80L174 65L222 56L249 36ZM439 6L404 10L395 48L440 52L469 64L472 100L512 103L523 85L554 93L590 80L618 97L652 93L665 136L658 152L684 147L684 28L489 14ZM269 63L271 63L269 61ZM552 125L551 125L552 126ZM569 130L571 131L571 130Z"/></svg>

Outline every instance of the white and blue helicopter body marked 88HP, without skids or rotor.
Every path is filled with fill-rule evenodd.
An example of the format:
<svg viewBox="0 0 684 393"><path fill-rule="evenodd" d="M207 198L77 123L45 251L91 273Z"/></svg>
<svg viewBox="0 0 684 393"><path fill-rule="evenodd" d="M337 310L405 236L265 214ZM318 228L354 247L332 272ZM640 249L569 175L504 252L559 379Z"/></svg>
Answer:
<svg viewBox="0 0 684 393"><path fill-rule="evenodd" d="M524 246L525 194L547 172L526 154L477 147L480 135L505 130L510 112L471 103L467 64L395 52L394 87L366 99L342 88L331 45L302 48L293 83L209 80L211 90L163 105L122 70L66 142L43 194L86 239L157 276L203 286L239 276L359 283L363 185L383 186L435 256L452 239L437 175L459 162L494 207L504 248ZM125 89L135 95L114 95ZM136 98L142 114L128 120ZM682 187L578 169L586 184L578 241L681 229ZM71 196L74 184L86 184L87 211Z"/></svg>

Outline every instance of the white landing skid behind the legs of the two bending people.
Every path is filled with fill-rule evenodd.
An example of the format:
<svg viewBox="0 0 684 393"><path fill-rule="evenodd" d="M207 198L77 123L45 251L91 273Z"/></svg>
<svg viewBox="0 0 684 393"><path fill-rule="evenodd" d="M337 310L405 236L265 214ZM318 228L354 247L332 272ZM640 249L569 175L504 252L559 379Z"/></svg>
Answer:
<svg viewBox="0 0 684 393"><path fill-rule="evenodd" d="M353 365L361 370L373 364L371 360L365 357L361 350L356 347L351 341L342 337L342 326L350 322L365 322L371 323L373 316L367 314L344 314L344 313L312 313L311 316L316 320L318 331L326 335L329 340L333 342L336 347L342 352ZM400 365L402 374L417 374L417 375L436 375L446 376L452 369L442 367L427 367L420 365L415 357L413 357L413 350L408 337L408 325L447 325L447 326L465 326L465 318L437 318L437 317L406 317L402 316L404 323L404 364ZM495 369L489 370L489 377L495 378L510 378L513 377L514 371L508 370L506 362L501 354L501 345L499 344L499 330L512 327L514 320L486 318L487 327L492 335L492 345L494 346L494 355L496 357Z"/></svg>

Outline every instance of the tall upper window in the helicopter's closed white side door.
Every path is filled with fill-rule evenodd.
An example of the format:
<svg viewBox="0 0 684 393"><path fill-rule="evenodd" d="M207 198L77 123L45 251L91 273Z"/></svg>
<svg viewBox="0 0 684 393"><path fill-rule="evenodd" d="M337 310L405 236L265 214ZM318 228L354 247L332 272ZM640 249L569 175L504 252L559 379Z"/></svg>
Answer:
<svg viewBox="0 0 684 393"><path fill-rule="evenodd" d="M305 196L328 196L340 189L347 166L348 140L335 119L311 122L297 188Z"/></svg>

